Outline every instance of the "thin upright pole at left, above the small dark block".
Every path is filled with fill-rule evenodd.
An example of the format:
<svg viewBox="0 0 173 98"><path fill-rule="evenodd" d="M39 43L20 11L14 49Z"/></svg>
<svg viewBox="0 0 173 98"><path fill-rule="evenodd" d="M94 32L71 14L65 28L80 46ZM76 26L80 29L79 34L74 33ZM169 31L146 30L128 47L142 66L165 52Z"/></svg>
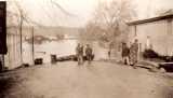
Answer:
<svg viewBox="0 0 173 98"><path fill-rule="evenodd" d="M31 28L31 51L32 51L32 62L34 62L34 65L35 65L35 28L34 28L34 26L32 26L32 28Z"/></svg>

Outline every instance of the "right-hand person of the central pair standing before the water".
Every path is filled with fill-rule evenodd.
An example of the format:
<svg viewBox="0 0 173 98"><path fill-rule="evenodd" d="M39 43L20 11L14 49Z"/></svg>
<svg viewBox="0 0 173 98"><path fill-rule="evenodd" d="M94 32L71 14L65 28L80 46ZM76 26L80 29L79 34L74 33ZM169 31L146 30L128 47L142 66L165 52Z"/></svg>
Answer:
<svg viewBox="0 0 173 98"><path fill-rule="evenodd" d="M89 44L86 44L85 56L86 56L89 64L91 64L92 55L93 55L93 50L91 48L91 46Z"/></svg>

